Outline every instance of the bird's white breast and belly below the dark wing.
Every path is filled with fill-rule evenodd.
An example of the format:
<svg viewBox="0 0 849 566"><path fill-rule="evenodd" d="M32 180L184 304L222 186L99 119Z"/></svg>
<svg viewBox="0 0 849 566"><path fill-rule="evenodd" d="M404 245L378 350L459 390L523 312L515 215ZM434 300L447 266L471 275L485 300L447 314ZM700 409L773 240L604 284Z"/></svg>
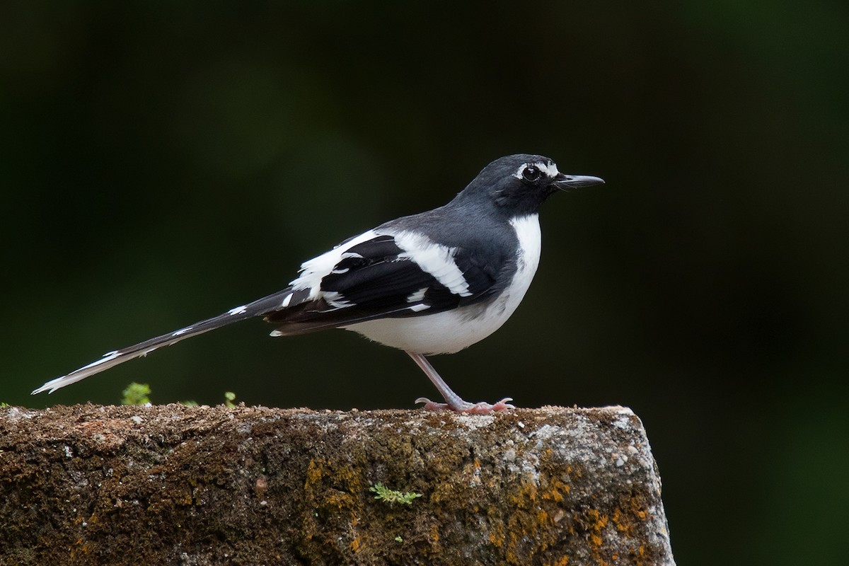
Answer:
<svg viewBox="0 0 849 566"><path fill-rule="evenodd" d="M419 354L453 354L501 328L519 306L539 266L542 237L537 215L510 221L519 238L513 281L486 305L408 318L382 318L346 327L380 344Z"/></svg>

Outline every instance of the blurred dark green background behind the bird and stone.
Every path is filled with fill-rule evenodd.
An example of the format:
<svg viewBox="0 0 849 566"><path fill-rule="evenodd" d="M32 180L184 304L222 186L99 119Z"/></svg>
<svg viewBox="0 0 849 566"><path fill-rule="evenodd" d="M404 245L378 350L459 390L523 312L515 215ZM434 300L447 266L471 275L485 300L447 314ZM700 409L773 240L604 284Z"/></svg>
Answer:
<svg viewBox="0 0 849 566"><path fill-rule="evenodd" d="M846 3L3 3L0 401L410 407L401 352L245 322L52 396L107 350L284 287L503 154L543 210L461 395L633 407L681 564L845 561Z"/></svg>

